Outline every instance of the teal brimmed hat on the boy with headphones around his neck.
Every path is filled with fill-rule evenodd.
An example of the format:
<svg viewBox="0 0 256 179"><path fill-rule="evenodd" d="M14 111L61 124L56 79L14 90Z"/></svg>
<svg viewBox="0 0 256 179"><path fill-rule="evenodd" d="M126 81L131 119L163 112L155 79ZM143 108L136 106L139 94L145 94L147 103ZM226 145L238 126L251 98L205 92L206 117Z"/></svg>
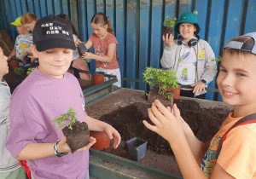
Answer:
<svg viewBox="0 0 256 179"><path fill-rule="evenodd" d="M196 17L197 11L195 10L193 13L183 13L180 15L178 21L176 22L175 26L173 27L174 32L179 33L179 25L181 23L189 22L192 24L195 24L197 26L195 34L198 34L201 30L200 26L198 25L197 17Z"/></svg>

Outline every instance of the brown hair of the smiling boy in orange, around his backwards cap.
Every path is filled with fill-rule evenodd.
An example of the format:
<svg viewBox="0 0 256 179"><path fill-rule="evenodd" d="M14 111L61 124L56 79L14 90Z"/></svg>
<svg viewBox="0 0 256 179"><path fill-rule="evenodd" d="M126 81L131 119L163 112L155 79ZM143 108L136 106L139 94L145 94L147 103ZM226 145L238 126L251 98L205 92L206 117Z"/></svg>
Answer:
<svg viewBox="0 0 256 179"><path fill-rule="evenodd" d="M231 38L230 41L237 41L254 45L253 38L247 36L238 36L236 38ZM253 55L251 52L241 49L224 49L224 53L228 53L230 55Z"/></svg>

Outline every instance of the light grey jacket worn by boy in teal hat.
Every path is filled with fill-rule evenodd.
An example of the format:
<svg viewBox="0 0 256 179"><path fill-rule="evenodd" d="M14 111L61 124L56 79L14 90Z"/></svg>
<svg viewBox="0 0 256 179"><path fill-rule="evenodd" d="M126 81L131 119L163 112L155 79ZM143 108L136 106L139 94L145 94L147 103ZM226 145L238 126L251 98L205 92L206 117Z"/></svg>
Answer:
<svg viewBox="0 0 256 179"><path fill-rule="evenodd" d="M182 45L177 44L177 40L174 40L172 48L166 47L160 61L161 66L176 72L181 46ZM191 48L195 50L195 55L197 57L195 83L204 79L207 81L207 84L209 84L217 73L216 62L212 61L212 59L215 58L212 48L207 41L201 39ZM201 94L204 94L204 92L202 91Z"/></svg>

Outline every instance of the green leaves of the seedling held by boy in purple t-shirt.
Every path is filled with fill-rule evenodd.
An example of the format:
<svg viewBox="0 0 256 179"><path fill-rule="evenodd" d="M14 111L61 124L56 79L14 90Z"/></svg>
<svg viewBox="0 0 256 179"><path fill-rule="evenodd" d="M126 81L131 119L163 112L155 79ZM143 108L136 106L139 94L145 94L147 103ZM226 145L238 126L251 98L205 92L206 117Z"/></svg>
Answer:
<svg viewBox="0 0 256 179"><path fill-rule="evenodd" d="M73 107L69 108L67 113L61 114L60 118L54 118L52 124L56 125L59 130L63 127L68 126L68 129L73 130L72 126L77 121L76 112L73 110Z"/></svg>

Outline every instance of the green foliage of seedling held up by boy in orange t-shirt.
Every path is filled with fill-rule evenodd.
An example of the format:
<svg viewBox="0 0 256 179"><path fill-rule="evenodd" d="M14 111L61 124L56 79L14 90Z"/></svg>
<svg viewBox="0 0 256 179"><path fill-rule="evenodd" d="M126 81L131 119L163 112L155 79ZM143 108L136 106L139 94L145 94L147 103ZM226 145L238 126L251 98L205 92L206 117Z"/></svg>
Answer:
<svg viewBox="0 0 256 179"><path fill-rule="evenodd" d="M179 86L177 84L176 72L172 70L147 67L146 71L143 72L143 77L150 88L153 88L155 85L159 86L158 93L160 95L164 95L169 88L177 88Z"/></svg>

